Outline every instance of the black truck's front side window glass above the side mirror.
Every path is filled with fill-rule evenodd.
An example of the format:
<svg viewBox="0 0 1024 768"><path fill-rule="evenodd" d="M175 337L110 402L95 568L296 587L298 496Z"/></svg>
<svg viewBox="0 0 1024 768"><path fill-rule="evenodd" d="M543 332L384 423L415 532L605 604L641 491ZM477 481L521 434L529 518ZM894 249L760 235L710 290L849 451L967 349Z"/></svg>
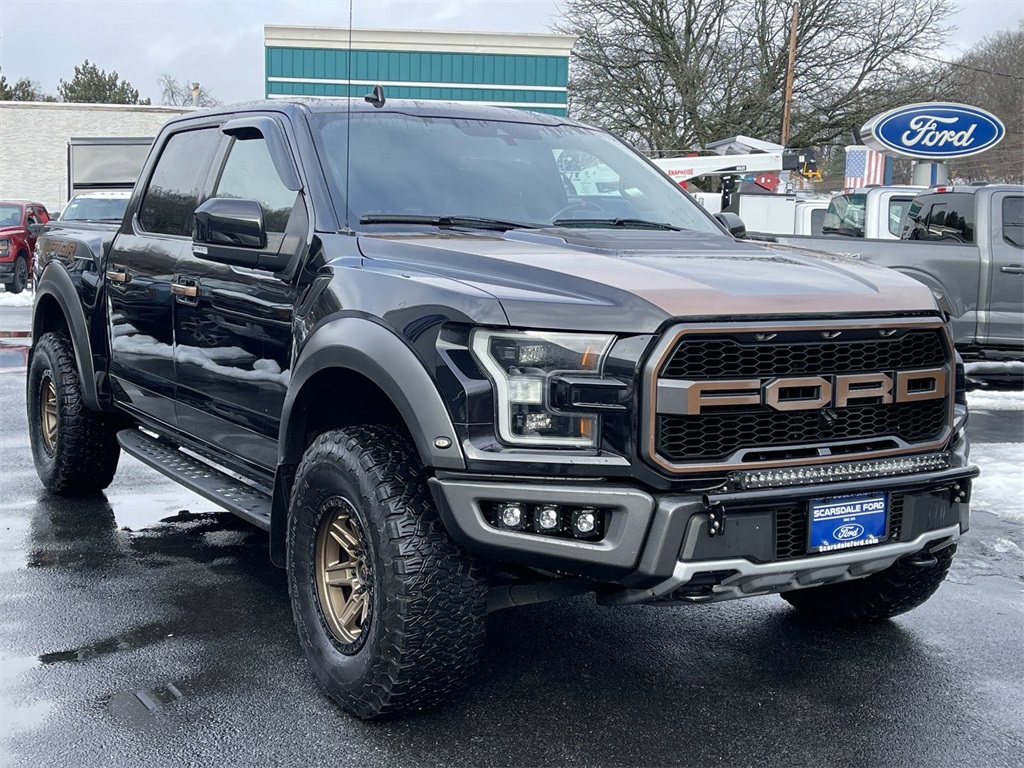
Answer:
<svg viewBox="0 0 1024 768"><path fill-rule="evenodd" d="M215 198L255 200L268 232L284 232L298 198L281 181L262 138L236 139L217 181Z"/></svg>

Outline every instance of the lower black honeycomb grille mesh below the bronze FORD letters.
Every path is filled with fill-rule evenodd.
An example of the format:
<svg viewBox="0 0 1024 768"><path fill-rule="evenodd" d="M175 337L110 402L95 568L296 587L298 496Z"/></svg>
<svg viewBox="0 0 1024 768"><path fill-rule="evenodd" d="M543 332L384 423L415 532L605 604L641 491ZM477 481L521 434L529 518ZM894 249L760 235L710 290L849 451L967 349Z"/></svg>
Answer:
<svg viewBox="0 0 1024 768"><path fill-rule="evenodd" d="M898 437L924 442L938 437L946 423L945 399L886 406L853 406L822 418L820 411L746 411L658 416L657 453L673 464L724 460L742 449Z"/></svg>

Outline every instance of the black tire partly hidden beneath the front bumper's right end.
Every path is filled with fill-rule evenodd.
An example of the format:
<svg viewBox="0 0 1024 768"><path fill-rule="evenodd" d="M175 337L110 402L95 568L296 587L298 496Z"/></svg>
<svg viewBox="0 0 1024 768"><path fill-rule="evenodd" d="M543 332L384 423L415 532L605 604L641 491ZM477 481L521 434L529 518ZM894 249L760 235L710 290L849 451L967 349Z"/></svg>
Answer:
<svg viewBox="0 0 1024 768"><path fill-rule="evenodd" d="M804 615L830 624L884 622L916 608L934 595L955 552L954 544L933 553L936 563L931 567L897 560L864 579L783 592L782 598Z"/></svg>

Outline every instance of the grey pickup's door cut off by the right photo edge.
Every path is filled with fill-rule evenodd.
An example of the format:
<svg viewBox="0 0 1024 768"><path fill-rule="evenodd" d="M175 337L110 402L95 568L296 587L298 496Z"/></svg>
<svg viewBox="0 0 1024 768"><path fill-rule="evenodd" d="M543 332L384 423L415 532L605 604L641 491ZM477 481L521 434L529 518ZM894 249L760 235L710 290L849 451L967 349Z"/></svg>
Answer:
<svg viewBox="0 0 1024 768"><path fill-rule="evenodd" d="M1024 340L1024 195L997 191L990 201L986 335L990 344L1019 344Z"/></svg>

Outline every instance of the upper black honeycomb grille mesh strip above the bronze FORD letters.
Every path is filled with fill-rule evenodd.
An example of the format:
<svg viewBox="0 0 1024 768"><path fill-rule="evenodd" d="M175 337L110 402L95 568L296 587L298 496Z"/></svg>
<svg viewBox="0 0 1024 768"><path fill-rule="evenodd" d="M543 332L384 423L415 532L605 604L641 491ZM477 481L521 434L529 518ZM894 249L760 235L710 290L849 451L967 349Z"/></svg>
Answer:
<svg viewBox="0 0 1024 768"><path fill-rule="evenodd" d="M776 337L777 338L777 337ZM729 379L858 374L941 366L938 330L908 331L891 339L744 343L735 338L685 337L662 369L663 379Z"/></svg>

